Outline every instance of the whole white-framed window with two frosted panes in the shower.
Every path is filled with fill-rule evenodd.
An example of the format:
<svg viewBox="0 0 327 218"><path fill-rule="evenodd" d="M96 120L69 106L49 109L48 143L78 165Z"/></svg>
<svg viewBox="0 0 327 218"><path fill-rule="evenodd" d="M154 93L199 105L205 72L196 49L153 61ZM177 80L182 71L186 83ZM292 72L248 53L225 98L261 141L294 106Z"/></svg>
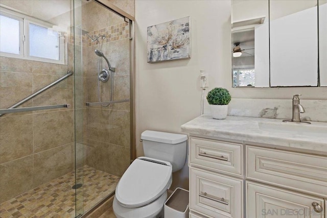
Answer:
<svg viewBox="0 0 327 218"><path fill-rule="evenodd" d="M1 56L64 64L63 33L53 25L5 8L0 13Z"/></svg>

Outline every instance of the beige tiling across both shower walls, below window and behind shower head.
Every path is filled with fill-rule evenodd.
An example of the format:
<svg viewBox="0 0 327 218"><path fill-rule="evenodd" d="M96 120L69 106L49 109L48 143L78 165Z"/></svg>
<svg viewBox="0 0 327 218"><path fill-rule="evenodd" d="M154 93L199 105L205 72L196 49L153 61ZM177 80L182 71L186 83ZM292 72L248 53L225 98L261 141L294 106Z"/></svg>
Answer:
<svg viewBox="0 0 327 218"><path fill-rule="evenodd" d="M109 2L134 15L134 1ZM111 65L116 67L114 100L128 99L128 26L123 18L94 2L82 7L82 23L85 25L82 29L95 35L107 32L101 50ZM13 113L0 117L0 202L74 171L75 155L78 167L88 164L117 176L121 176L128 167L129 103L105 108L85 106L85 102L98 102L98 56L94 50L99 45L90 43L85 36L83 39L83 43L77 42L75 45L76 55L81 52L83 54L76 58L75 69L74 46L70 36L66 36L68 58L65 65L0 57L1 109L24 99L72 69L75 72L77 120L75 148L73 76L21 106L69 104L70 108ZM101 69L102 67L106 68L104 60ZM101 84L102 101L109 100L109 90L109 83Z"/></svg>

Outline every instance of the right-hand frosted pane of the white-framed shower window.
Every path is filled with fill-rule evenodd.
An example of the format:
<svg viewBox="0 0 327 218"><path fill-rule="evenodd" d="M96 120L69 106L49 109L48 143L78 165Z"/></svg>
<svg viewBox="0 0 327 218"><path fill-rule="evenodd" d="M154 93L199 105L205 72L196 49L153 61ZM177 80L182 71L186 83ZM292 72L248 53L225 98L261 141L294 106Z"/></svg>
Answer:
<svg viewBox="0 0 327 218"><path fill-rule="evenodd" d="M30 56L59 60L59 34L30 23Z"/></svg>

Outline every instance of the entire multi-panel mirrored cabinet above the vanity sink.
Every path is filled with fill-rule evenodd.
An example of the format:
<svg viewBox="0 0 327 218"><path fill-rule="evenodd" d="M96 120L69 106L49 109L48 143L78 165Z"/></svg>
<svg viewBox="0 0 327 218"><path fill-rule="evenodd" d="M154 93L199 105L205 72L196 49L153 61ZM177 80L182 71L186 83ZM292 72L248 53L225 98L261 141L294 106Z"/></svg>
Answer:
<svg viewBox="0 0 327 218"><path fill-rule="evenodd" d="M233 87L326 86L326 2L232 0Z"/></svg>

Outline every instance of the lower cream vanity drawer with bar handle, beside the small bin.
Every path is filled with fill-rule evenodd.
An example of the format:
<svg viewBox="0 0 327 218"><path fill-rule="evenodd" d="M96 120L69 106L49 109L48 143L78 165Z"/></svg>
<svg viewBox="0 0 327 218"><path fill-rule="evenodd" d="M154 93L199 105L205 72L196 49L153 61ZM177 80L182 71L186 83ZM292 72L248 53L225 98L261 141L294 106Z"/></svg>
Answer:
<svg viewBox="0 0 327 218"><path fill-rule="evenodd" d="M243 180L190 168L190 209L209 217L243 217Z"/></svg>

